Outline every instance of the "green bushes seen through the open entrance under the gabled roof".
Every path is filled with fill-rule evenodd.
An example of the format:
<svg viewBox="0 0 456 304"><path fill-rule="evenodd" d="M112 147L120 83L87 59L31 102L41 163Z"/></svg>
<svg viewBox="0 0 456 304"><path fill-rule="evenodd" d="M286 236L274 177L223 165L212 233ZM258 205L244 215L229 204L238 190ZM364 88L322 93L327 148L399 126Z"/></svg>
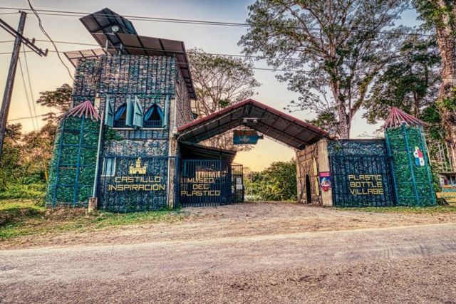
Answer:
<svg viewBox="0 0 456 304"><path fill-rule="evenodd" d="M251 172L244 179L245 194L263 201L296 201L296 163L273 162L262 172Z"/></svg>

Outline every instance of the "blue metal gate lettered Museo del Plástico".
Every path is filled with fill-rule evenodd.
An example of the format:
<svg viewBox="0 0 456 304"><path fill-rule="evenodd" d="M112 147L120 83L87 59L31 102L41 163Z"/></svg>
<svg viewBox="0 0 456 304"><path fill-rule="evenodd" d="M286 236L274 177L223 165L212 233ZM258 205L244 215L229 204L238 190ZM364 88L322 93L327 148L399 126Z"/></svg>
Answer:
<svg viewBox="0 0 456 304"><path fill-rule="evenodd" d="M243 201L244 194L239 194L239 190L242 190L239 183L242 185L242 165L232 165L231 162L218 159L182 159L180 204L219 206Z"/></svg>

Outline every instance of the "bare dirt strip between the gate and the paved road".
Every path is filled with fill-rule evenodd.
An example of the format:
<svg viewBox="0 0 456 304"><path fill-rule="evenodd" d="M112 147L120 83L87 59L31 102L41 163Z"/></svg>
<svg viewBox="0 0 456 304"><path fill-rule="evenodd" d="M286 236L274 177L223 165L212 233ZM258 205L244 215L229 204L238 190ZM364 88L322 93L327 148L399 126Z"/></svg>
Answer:
<svg viewBox="0 0 456 304"><path fill-rule="evenodd" d="M456 223L456 212L383 214L304 204L248 203L185 208L182 221L108 227L96 231L35 234L6 241L1 249L43 246L108 245L149 241L188 241L227 237L294 234L363 228Z"/></svg>

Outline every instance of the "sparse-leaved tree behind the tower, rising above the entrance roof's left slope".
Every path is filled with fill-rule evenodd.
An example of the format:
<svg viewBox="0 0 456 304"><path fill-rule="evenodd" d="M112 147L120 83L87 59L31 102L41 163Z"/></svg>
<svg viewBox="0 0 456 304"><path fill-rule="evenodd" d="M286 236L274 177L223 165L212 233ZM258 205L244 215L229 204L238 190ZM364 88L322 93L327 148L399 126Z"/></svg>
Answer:
<svg viewBox="0 0 456 304"><path fill-rule="evenodd" d="M194 48L189 52L190 69L197 94L197 112L207 116L254 95L260 83L254 78L253 64L245 58L217 56ZM209 145L239 150L233 145L232 133L213 137ZM242 145L243 149L249 148Z"/></svg>

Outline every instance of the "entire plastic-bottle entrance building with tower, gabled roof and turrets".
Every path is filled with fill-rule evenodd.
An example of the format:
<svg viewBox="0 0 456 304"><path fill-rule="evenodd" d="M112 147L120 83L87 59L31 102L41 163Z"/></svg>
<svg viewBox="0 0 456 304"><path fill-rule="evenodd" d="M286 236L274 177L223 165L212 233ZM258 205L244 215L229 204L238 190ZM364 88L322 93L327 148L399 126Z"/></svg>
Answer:
<svg viewBox="0 0 456 304"><path fill-rule="evenodd" d="M201 145L241 125L296 151L302 203L435 204L423 122L410 115L393 109L385 140L331 140L255 100L194 120L182 41L140 36L110 9L81 21L100 48L66 53L76 80L58 125L47 206L87 206L94 197L99 209L125 212L242 201L236 152Z"/></svg>

